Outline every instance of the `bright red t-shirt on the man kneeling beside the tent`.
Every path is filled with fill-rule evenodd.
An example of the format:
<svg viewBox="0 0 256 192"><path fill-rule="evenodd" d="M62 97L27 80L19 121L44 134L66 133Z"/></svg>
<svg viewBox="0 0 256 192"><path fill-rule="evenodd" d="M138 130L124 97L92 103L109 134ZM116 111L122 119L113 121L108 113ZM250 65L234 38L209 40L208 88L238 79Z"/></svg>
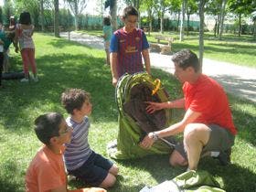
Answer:
<svg viewBox="0 0 256 192"><path fill-rule="evenodd" d="M194 123L218 124L236 134L228 97L216 80L206 75L199 76L196 83L183 85L185 108L202 114Z"/></svg>

